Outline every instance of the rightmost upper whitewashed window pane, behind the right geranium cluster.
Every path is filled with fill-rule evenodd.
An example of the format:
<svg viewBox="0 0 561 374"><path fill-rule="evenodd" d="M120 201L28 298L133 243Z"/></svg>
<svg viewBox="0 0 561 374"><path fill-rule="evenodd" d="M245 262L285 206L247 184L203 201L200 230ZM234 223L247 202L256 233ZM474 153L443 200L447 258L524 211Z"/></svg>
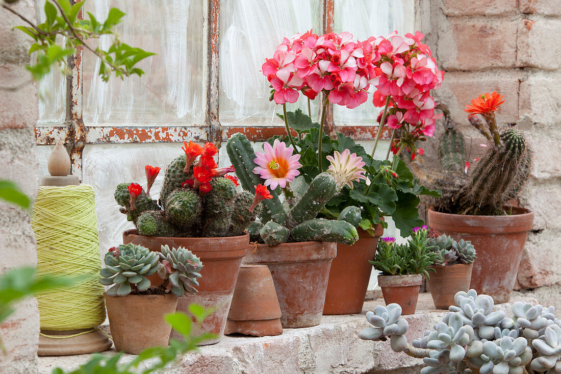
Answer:
<svg viewBox="0 0 561 374"><path fill-rule="evenodd" d="M413 0L335 0L335 32L349 31L355 39L385 36L393 30L399 35L414 33L415 2ZM373 88L370 88L373 90ZM372 95L360 107L347 109L334 105L337 125L374 124L379 108L372 105Z"/></svg>

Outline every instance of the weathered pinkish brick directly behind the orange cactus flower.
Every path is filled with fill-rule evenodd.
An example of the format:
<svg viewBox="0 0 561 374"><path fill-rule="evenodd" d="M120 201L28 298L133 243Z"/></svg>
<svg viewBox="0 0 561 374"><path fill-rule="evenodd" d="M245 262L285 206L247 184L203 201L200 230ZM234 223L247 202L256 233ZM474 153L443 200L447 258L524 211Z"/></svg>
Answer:
<svg viewBox="0 0 561 374"><path fill-rule="evenodd" d="M468 124L466 104L485 92L496 91L506 102L500 107L497 120L501 123L518 120L518 78L508 73L446 72L442 88L435 90L436 98L446 104L458 124Z"/></svg>

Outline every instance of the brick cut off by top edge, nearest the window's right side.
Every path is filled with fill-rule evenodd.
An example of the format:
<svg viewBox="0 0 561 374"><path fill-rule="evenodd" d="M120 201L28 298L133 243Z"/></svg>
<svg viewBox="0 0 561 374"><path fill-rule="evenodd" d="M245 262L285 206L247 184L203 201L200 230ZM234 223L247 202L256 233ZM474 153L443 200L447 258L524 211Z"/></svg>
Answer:
<svg viewBox="0 0 561 374"><path fill-rule="evenodd" d="M458 1L443 0L442 12L447 16L495 16L518 10L516 0Z"/></svg>

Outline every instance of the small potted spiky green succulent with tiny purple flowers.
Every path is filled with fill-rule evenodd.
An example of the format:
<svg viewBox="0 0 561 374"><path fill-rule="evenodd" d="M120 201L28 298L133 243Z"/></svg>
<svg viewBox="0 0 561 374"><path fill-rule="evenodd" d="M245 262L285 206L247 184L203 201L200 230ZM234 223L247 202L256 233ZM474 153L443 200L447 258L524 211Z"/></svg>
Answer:
<svg viewBox="0 0 561 374"><path fill-rule="evenodd" d="M378 276L386 305L396 303L403 314L414 314L422 279L429 278L436 253L427 248L427 227L415 227L406 244L397 244L396 238L381 238L374 261L370 261Z"/></svg>

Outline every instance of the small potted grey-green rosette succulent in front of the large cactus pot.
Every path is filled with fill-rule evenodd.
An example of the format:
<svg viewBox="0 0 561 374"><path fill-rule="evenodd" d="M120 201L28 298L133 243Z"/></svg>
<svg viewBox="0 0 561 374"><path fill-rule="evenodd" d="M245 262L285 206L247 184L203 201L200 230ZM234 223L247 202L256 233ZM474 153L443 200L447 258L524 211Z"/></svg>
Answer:
<svg viewBox="0 0 561 374"><path fill-rule="evenodd" d="M470 241L456 241L448 235L429 238L427 246L436 253L435 273L427 280L430 294L436 308L448 309L458 291L470 290L475 248Z"/></svg>

